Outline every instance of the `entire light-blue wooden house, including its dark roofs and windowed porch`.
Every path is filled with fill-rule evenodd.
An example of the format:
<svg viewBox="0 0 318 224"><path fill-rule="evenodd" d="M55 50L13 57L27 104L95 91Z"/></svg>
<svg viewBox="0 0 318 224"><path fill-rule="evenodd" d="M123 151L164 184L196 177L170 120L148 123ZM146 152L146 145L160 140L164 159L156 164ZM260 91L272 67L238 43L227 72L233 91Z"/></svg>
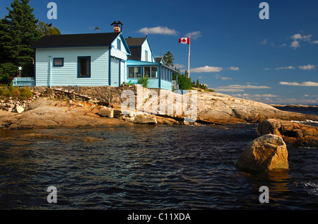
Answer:
<svg viewBox="0 0 318 224"><path fill-rule="evenodd" d="M122 33L48 35L35 49L35 86L121 86L149 78L148 88L172 90L172 68L155 59L148 38Z"/></svg>

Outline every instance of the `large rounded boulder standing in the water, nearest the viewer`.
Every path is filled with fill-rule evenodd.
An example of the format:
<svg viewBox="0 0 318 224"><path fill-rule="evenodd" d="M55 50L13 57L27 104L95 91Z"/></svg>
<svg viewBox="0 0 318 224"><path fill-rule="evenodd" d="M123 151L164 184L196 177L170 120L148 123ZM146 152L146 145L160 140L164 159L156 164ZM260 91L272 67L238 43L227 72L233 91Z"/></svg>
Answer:
<svg viewBox="0 0 318 224"><path fill-rule="evenodd" d="M288 151L283 138L266 134L250 142L235 161L242 170L266 172L288 170Z"/></svg>

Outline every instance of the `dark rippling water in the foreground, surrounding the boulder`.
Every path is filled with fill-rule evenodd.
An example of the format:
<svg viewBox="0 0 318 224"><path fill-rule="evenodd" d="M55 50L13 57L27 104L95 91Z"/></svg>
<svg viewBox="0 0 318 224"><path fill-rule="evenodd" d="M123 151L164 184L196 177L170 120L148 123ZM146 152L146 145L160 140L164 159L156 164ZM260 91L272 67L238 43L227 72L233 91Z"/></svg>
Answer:
<svg viewBox="0 0 318 224"><path fill-rule="evenodd" d="M235 167L256 127L0 131L0 208L317 209L317 148L288 148L286 172ZM47 202L49 186L57 204ZM269 204L259 202L261 186Z"/></svg>

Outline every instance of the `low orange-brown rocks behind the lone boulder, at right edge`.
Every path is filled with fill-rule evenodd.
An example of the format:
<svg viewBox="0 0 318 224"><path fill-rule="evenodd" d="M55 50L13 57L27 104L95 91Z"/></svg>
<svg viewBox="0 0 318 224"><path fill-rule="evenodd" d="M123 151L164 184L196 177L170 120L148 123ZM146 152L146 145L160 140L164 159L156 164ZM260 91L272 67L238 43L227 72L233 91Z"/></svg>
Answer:
<svg viewBox="0 0 318 224"><path fill-rule="evenodd" d="M288 146L318 147L318 127L278 119L266 119L257 126L257 134L276 134Z"/></svg>

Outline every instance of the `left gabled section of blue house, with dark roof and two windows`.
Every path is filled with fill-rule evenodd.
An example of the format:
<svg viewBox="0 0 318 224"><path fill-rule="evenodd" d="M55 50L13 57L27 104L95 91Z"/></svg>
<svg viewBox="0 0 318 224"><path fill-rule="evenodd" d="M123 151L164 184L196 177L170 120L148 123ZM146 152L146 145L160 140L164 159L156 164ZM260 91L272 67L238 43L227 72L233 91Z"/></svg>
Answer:
<svg viewBox="0 0 318 224"><path fill-rule="evenodd" d="M35 86L120 86L131 54L122 33L48 35L35 42Z"/></svg>

